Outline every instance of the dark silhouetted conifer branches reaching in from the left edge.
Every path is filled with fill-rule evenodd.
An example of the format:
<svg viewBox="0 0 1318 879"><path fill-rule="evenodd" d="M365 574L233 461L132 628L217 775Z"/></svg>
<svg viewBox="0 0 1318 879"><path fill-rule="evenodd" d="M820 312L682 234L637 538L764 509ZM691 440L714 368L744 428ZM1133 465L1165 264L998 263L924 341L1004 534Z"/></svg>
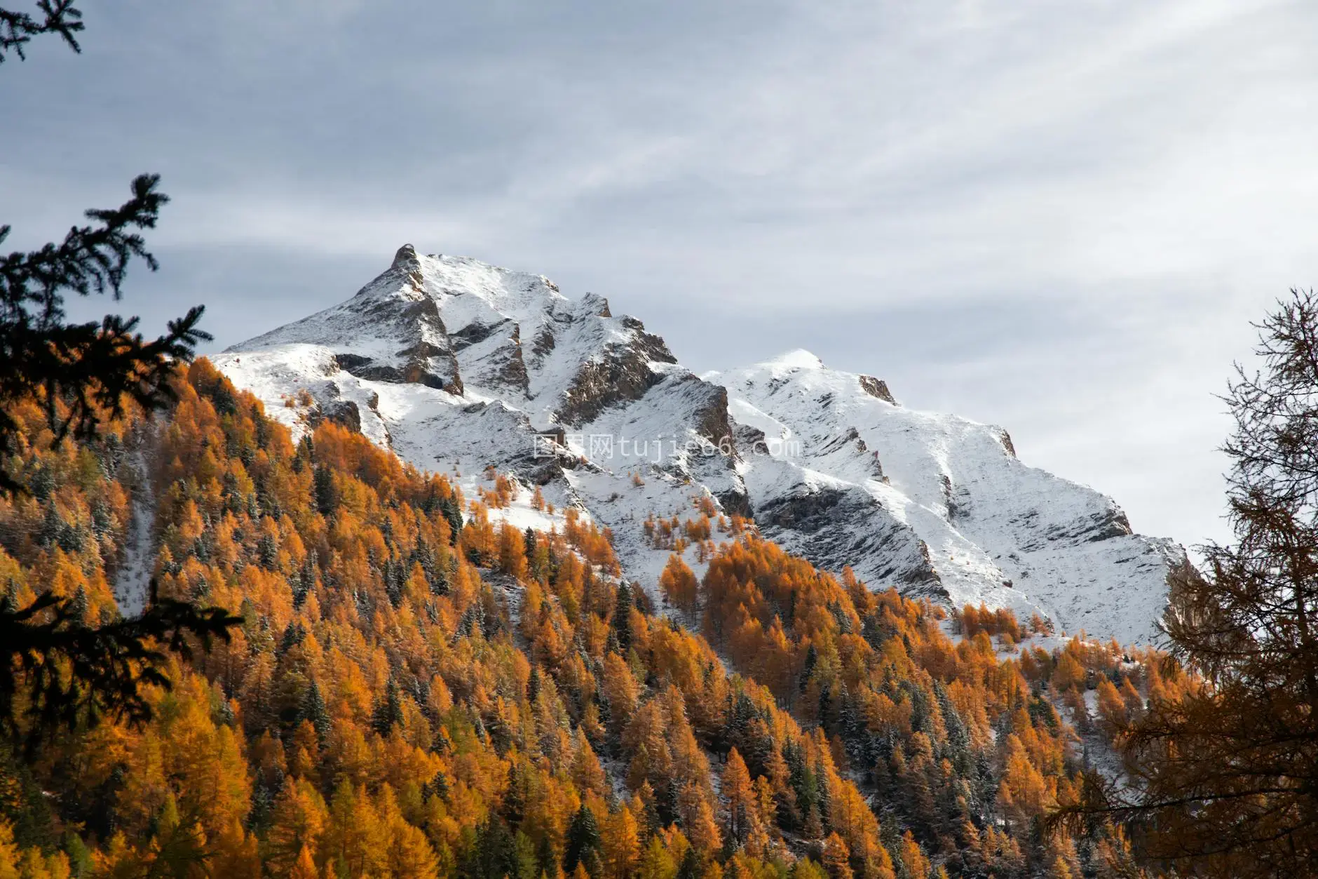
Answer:
<svg viewBox="0 0 1318 879"><path fill-rule="evenodd" d="M80 51L83 29L72 0L41 0L43 18L0 9L0 62L13 50L24 58L32 37L58 33ZM148 412L174 399L177 364L191 360L210 334L198 327L202 306L169 322L169 331L142 338L137 318L105 315L69 323L63 294L121 293L128 264L141 259L156 271L138 230L154 228L169 198L159 177L142 174L132 198L115 209L90 210L63 242L0 257L0 492L25 491L13 475L21 425L17 404L40 400L55 442L95 436L99 425L124 414L132 401ZM0 242L9 235L0 226ZM154 586L154 585L153 585ZM194 644L228 640L241 618L219 607L199 608L157 599L136 619L91 628L69 599L46 593L25 608L0 603L0 735L21 738L29 751L59 729L94 725L103 715L141 723L150 718L146 686L169 688L167 653L185 657Z"/></svg>

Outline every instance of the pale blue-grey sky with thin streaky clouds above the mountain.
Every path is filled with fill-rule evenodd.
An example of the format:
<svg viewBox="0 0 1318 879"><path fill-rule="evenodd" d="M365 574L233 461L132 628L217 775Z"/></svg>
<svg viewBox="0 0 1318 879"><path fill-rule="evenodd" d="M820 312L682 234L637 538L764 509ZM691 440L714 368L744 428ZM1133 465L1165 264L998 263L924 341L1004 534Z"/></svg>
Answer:
<svg viewBox="0 0 1318 879"><path fill-rule="evenodd" d="M1249 322L1318 284L1307 0L82 5L80 55L0 66L4 247L162 174L117 308L203 302L208 350L410 242L604 294L696 371L880 376L1193 545L1230 536Z"/></svg>

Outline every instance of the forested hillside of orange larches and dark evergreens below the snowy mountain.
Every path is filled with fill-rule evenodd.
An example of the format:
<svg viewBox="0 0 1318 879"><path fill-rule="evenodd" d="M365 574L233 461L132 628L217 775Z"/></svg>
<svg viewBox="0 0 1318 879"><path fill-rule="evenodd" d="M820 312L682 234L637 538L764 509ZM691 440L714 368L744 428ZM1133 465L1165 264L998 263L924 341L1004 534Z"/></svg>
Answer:
<svg viewBox="0 0 1318 879"><path fill-rule="evenodd" d="M13 413L4 602L104 622L154 574L245 623L148 723L5 746L0 879L1139 875L1110 828L1040 818L1174 667L945 619L737 519L654 606L608 531L501 524L529 487L463 498L330 422L294 443L204 360L177 388L53 450L38 400Z"/></svg>

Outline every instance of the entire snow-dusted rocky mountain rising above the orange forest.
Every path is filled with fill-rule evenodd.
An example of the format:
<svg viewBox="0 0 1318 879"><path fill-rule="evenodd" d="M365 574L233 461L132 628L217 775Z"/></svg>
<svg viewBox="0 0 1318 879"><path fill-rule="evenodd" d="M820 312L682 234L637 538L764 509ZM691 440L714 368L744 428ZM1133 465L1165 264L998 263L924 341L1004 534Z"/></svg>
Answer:
<svg viewBox="0 0 1318 879"><path fill-rule="evenodd" d="M608 525L651 590L670 550L643 521L699 516L701 498L874 587L1122 641L1151 636L1184 558L1111 499L1023 465L1000 428L907 409L804 351L697 376L601 297L411 245L216 366L295 429L332 418L419 467L517 474Z"/></svg>

